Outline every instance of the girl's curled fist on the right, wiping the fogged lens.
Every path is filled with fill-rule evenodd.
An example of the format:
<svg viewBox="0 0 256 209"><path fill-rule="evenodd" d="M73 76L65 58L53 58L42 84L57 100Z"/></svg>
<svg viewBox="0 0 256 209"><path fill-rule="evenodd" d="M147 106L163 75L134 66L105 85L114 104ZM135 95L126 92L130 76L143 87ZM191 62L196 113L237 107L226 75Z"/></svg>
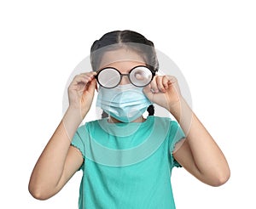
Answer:
<svg viewBox="0 0 256 209"><path fill-rule="evenodd" d="M174 76L154 76L152 82L143 88L148 99L172 112L172 108L182 99L177 78Z"/></svg>

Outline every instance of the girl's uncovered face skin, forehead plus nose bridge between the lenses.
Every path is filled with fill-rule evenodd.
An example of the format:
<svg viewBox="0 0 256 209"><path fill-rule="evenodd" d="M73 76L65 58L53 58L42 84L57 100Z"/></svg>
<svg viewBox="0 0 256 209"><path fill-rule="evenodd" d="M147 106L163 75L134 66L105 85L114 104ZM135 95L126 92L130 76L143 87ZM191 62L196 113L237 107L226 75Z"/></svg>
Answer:
<svg viewBox="0 0 256 209"><path fill-rule="evenodd" d="M113 67L117 69L121 74L128 74L132 68L137 65L145 65L143 58L136 52L127 49L120 48L117 50L109 51L102 57L100 69L105 67ZM123 76L119 85L129 84L130 81L127 76Z"/></svg>

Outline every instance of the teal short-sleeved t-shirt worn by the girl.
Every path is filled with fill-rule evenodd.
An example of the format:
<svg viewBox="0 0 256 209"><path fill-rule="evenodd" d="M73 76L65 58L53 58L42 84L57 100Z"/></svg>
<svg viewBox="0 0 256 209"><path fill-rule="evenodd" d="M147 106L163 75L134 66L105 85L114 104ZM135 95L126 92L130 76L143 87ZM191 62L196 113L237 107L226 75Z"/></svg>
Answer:
<svg viewBox="0 0 256 209"><path fill-rule="evenodd" d="M172 150L182 138L177 121L157 116L79 127L72 141L84 156L79 208L175 208L171 174L180 165Z"/></svg>

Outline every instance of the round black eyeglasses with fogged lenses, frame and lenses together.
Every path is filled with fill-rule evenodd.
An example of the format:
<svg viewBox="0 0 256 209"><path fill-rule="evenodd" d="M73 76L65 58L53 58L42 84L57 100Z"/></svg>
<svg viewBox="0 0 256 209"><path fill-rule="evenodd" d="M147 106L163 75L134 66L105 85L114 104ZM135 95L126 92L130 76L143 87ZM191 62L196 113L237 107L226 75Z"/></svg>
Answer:
<svg viewBox="0 0 256 209"><path fill-rule="evenodd" d="M119 85L123 76L128 76L129 81L136 87L142 88L147 86L155 76L155 72L148 67L139 65L131 69L128 74L121 74L113 67L106 67L100 70L96 77L96 81L103 88L115 88Z"/></svg>

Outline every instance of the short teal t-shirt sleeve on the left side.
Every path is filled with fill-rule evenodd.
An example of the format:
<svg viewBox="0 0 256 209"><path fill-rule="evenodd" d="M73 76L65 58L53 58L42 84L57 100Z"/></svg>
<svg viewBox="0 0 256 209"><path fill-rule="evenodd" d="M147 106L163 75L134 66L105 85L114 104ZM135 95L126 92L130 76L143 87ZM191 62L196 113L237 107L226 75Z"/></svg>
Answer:
<svg viewBox="0 0 256 209"><path fill-rule="evenodd" d="M73 147L77 148L81 154L83 155L83 158L85 157L85 138L87 138L88 132L86 130L85 125L81 126L78 128L78 130L76 131L76 133L73 136L71 145L73 145ZM82 167L79 168L79 170Z"/></svg>

